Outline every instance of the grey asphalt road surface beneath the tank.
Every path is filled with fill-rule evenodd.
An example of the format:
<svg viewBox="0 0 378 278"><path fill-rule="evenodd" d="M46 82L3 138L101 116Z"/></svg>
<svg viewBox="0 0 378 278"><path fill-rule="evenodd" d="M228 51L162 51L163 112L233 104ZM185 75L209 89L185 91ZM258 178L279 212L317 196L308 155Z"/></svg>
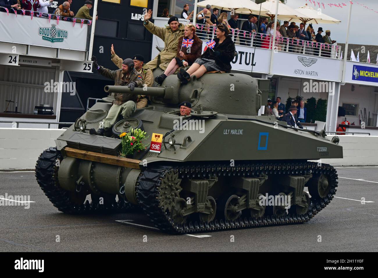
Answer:
<svg viewBox="0 0 378 278"><path fill-rule="evenodd" d="M0 250L376 252L378 167L336 169L339 175L336 198L305 224L194 235L169 235L140 226L152 227L141 212L99 216L64 214L43 194L34 172L0 172L0 195L29 195L33 202L29 209L24 205L0 206ZM365 198L365 204L361 198ZM130 224L117 220L127 220ZM232 236L234 242L230 240Z"/></svg>

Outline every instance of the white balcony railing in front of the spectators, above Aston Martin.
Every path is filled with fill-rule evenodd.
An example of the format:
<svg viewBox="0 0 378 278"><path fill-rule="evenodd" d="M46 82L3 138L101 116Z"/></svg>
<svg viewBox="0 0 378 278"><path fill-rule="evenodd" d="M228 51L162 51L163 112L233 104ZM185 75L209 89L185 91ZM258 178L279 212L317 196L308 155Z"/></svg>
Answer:
<svg viewBox="0 0 378 278"><path fill-rule="evenodd" d="M202 40L210 40L216 37L216 26L196 24L197 36ZM235 45L272 49L273 36L237 29L230 29L230 35ZM312 56L340 59L341 47L335 44L319 43L315 41L276 37L276 51L301 53Z"/></svg>

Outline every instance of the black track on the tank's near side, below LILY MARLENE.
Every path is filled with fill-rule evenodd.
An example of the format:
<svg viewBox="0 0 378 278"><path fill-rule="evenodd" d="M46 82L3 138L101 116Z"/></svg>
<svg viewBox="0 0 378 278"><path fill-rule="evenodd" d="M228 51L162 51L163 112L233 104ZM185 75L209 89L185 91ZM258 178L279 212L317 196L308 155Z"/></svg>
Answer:
<svg viewBox="0 0 378 278"><path fill-rule="evenodd" d="M285 216L263 216L262 218L240 218L235 221L226 219L214 219L208 222L189 222L183 225L175 225L171 221L169 214L164 212L159 206L159 186L161 180L169 171L177 171L179 177L191 177L201 179L209 175L234 175L234 176L253 176L257 174L304 174L310 172L312 174L327 174L330 176L331 185L328 195L324 198L314 199L311 196L308 211L305 214L287 214ZM337 171L330 165L323 164L317 166L315 162L303 163L251 163L249 165L195 165L183 167L161 167L154 169L146 169L141 173L137 184L137 199L139 205L149 216L155 227L170 233L197 233L204 231L217 231L235 228L260 227L267 225L283 225L304 223L313 218L323 208L325 208L333 199L338 186Z"/></svg>

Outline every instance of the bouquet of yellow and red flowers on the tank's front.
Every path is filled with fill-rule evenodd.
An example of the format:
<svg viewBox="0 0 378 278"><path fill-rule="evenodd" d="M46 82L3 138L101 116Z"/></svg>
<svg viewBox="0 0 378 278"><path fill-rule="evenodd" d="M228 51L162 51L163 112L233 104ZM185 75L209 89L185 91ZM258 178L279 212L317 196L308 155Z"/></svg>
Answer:
<svg viewBox="0 0 378 278"><path fill-rule="evenodd" d="M134 152L143 151L147 148L147 145L142 143L142 140L146 139L146 132L141 129L130 128L129 132L124 132L119 135L122 140L122 151L121 156L126 157L127 155L132 155Z"/></svg>

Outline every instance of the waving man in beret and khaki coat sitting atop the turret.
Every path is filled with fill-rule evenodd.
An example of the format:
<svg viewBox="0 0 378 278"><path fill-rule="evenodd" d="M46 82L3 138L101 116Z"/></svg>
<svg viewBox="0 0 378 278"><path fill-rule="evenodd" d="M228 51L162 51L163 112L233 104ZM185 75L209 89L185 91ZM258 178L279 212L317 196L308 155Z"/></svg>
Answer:
<svg viewBox="0 0 378 278"><path fill-rule="evenodd" d="M177 55L178 39L181 36L184 36L184 25L178 22L178 18L176 16L172 16L168 20L168 26L158 27L149 21L151 17L152 11L149 10L144 15L143 25L148 31L160 37L160 39L164 41L164 49L158 54L158 56L160 55L159 65L158 56L156 56L153 60L145 64L143 68L155 70L155 68L160 67L162 70L166 70L170 61L172 61L172 59Z"/></svg>

